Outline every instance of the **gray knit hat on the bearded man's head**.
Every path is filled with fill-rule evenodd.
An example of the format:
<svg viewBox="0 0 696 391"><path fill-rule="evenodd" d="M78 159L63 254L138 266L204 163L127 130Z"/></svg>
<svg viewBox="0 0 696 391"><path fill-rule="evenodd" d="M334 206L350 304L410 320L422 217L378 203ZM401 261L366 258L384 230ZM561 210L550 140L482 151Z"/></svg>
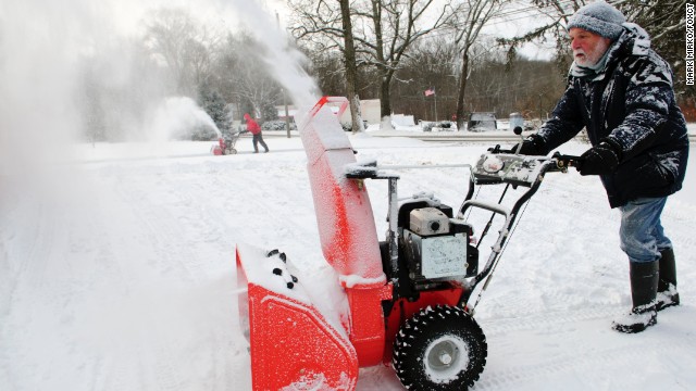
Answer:
<svg viewBox="0 0 696 391"><path fill-rule="evenodd" d="M623 33L626 22L621 11L604 1L587 4L575 12L568 22L568 29L579 27L614 40Z"/></svg>

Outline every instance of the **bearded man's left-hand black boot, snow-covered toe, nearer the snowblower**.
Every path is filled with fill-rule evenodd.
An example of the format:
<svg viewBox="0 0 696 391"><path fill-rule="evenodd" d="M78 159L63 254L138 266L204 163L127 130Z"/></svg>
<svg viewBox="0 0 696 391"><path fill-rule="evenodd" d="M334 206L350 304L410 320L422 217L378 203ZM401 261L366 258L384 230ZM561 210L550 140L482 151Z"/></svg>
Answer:
<svg viewBox="0 0 696 391"><path fill-rule="evenodd" d="M611 326L621 332L641 332L657 323L657 283L660 278L659 261L631 262L631 312Z"/></svg>

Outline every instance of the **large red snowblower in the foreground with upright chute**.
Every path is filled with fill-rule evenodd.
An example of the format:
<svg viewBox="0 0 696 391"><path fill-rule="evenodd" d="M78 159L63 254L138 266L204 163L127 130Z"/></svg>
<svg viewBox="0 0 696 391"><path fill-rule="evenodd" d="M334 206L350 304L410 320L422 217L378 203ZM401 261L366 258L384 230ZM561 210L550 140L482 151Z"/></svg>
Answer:
<svg viewBox="0 0 696 391"><path fill-rule="evenodd" d="M515 217L544 175L567 172L576 157L522 156L497 146L475 166L461 165L472 175L458 210L432 194L399 201L399 176L374 161L357 162L327 103L340 104L338 116L348 104L345 98L322 98L300 137L323 255L349 310L322 314L285 253L238 244L237 278L247 288L239 295L240 323L250 343L253 390L353 390L359 368L380 364L390 364L409 390L464 390L478 379L487 356L473 317L477 300L470 304L470 298L486 288ZM383 241L366 179L388 182ZM472 199L475 186L488 185L526 190L511 207ZM492 222L504 219L482 267L474 229L464 218L474 209L492 213Z"/></svg>

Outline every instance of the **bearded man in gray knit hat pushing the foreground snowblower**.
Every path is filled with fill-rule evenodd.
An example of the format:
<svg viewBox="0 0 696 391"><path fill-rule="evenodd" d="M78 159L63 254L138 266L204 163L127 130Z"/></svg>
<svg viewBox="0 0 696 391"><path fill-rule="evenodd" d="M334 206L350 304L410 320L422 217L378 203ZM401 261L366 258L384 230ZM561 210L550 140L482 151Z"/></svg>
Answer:
<svg viewBox="0 0 696 391"><path fill-rule="evenodd" d="M643 28L595 2L577 10L568 29L574 58L568 88L520 153L547 154L586 127L593 147L577 169L599 175L610 206L621 211L621 249L630 261L633 307L612 327L639 332L657 323L658 311L680 303L674 251L660 215L684 180L686 123L672 72Z"/></svg>

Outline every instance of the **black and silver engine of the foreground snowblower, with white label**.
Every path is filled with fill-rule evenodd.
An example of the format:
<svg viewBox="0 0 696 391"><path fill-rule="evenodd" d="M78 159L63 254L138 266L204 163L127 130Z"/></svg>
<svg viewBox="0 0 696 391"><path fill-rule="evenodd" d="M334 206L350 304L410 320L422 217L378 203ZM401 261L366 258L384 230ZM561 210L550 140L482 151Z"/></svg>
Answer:
<svg viewBox="0 0 696 391"><path fill-rule="evenodd" d="M398 230L400 268L408 270L414 290L476 275L478 253L469 244L473 230L452 218L451 207L406 203L399 210Z"/></svg>

